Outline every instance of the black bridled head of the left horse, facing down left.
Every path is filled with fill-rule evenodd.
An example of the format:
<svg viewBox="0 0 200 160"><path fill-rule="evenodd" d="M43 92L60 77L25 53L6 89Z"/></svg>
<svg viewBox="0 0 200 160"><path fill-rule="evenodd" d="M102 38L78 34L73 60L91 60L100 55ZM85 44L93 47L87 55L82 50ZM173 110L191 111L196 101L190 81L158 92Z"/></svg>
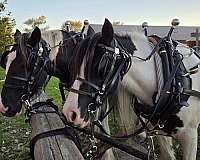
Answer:
<svg viewBox="0 0 200 160"><path fill-rule="evenodd" d="M45 67L50 53L38 27L31 34L20 35L16 41L9 52L15 52L16 58L10 64L1 93L2 104L8 108L4 115L9 117L19 113L22 103L42 88L47 78Z"/></svg>

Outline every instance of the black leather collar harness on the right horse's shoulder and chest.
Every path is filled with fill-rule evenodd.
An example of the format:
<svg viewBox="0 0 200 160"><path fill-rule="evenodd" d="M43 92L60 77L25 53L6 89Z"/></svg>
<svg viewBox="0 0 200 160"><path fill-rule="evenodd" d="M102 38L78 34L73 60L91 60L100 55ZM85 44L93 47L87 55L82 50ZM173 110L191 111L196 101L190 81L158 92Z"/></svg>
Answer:
<svg viewBox="0 0 200 160"><path fill-rule="evenodd" d="M154 106L142 104L135 100L134 109L138 116L147 119L142 122L147 129L147 124L151 122L153 130L163 130L168 135L176 132L173 121L179 121L176 114L182 107L189 107L187 100L190 96L200 97L200 92L192 90L192 79L190 75L195 72L188 72L182 62L183 56L176 50L176 42L162 39L156 35L149 37L162 61L164 85L157 102L155 95L152 97ZM155 43L156 42L156 43ZM154 49L155 49L154 48ZM182 127L179 121L176 127ZM148 130L148 129L147 129Z"/></svg>

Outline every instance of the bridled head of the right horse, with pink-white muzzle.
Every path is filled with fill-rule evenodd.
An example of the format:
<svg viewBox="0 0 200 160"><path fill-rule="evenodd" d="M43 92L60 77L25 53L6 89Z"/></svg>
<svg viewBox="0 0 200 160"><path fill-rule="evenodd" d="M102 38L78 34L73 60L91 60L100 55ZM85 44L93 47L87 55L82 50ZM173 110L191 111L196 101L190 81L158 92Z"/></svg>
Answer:
<svg viewBox="0 0 200 160"><path fill-rule="evenodd" d="M63 107L68 121L85 127L117 88L130 65L130 57L119 44L126 38L114 36L113 26L106 19L100 33L84 39L77 47L70 65L73 85Z"/></svg>

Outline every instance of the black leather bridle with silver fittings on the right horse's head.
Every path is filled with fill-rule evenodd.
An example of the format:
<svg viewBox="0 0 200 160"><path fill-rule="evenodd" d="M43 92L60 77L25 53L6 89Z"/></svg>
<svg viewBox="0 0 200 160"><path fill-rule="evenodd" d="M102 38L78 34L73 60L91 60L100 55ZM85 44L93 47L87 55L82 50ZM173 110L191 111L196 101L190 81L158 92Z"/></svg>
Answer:
<svg viewBox="0 0 200 160"><path fill-rule="evenodd" d="M92 98L92 102L88 104L87 106L87 120L90 120L90 127L91 127L91 133L94 133L94 126L97 125L103 132L105 130L103 129L101 122L103 119L109 114L111 110L106 112L104 114L104 118L99 120L96 119L97 110L102 106L103 101L107 98L107 96L112 91L113 87L116 85L116 82L118 80L122 80L123 76L128 72L130 66L131 66L131 54L127 53L123 46L119 44L119 42L114 39L114 47L106 46L105 44L98 44L97 47L100 47L104 50L104 54L102 58L105 58L105 56L108 56L111 59L109 71L105 75L105 79L103 80L103 83L99 86L94 83L92 83L89 80L83 79L78 77L76 80L87 84L91 88L94 89L94 92L90 91L84 91L84 90L77 90L74 88L71 88L70 91L86 95ZM100 60L100 62L102 59ZM85 117L86 118L86 117ZM98 124L97 124L98 123ZM91 137L91 143L94 142L94 136ZM93 145L93 149L95 150L96 146ZM89 153L88 153L89 154Z"/></svg>

